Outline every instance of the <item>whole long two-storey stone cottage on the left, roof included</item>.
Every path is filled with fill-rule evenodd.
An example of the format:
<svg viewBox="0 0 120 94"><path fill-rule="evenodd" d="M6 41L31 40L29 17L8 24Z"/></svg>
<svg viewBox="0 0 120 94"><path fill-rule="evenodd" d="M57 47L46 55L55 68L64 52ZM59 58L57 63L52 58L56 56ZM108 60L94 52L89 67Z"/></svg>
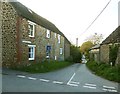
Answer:
<svg viewBox="0 0 120 94"><path fill-rule="evenodd" d="M70 42L53 23L19 2L0 2L0 5L3 66L46 58L63 61L70 56Z"/></svg>

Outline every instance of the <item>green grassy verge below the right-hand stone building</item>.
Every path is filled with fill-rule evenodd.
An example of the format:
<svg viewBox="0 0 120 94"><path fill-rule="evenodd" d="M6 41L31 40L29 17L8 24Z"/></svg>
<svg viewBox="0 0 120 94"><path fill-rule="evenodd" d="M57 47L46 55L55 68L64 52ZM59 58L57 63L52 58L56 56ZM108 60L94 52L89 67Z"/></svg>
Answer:
<svg viewBox="0 0 120 94"><path fill-rule="evenodd" d="M120 83L120 66L116 67L105 63L90 61L87 63L87 67L98 76Z"/></svg>

